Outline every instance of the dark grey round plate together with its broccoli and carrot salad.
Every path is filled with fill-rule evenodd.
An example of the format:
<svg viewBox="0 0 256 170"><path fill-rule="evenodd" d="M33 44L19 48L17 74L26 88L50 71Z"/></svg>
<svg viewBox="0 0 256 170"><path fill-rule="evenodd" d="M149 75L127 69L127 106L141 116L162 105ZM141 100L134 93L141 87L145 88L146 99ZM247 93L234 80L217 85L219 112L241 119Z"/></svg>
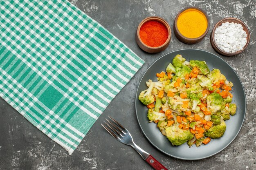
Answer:
<svg viewBox="0 0 256 170"><path fill-rule="evenodd" d="M227 62L207 51L182 49L148 68L135 108L151 144L172 157L198 160L215 155L236 138L246 98Z"/></svg>

